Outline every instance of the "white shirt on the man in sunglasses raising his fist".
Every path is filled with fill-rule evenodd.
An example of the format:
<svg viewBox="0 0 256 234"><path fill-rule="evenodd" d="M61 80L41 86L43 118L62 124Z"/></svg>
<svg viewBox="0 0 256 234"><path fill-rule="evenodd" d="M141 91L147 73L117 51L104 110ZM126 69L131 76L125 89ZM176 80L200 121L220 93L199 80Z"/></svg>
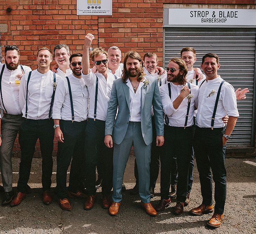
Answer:
<svg viewBox="0 0 256 234"><path fill-rule="evenodd" d="M98 98L97 98L97 112L96 119L106 120L107 115L107 106L109 105L109 100L111 96L111 89L113 82L115 80L114 75L111 72L107 73L107 80L104 75L101 73L92 73L82 74L82 78L85 81L86 86L88 87L90 104L89 104L89 114L88 117L94 119L94 103L95 103L95 89L96 89L96 80L98 77Z"/></svg>

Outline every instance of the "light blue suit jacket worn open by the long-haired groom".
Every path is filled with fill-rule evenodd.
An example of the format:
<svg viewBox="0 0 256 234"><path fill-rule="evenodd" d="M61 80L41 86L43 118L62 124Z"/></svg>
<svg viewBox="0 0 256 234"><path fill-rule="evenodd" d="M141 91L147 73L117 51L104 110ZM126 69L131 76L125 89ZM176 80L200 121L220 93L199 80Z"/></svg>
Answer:
<svg viewBox="0 0 256 234"><path fill-rule="evenodd" d="M151 106L156 123L156 135L164 135L164 121L163 121L163 107L159 94L157 79L149 76L146 79L150 80L149 85L142 87L141 96L141 128L142 135L146 145L152 142L152 120L151 120ZM115 121L118 107L118 114ZM122 79L114 80L111 98L107 108L105 135L112 135L113 142L120 144L126 134L130 118L130 92L126 82Z"/></svg>

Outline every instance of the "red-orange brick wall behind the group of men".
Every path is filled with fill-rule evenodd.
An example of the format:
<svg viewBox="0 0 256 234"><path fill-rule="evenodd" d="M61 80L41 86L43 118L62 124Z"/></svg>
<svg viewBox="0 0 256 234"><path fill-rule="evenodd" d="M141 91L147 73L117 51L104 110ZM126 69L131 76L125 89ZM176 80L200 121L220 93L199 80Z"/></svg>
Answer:
<svg viewBox="0 0 256 234"><path fill-rule="evenodd" d="M21 64L37 68L37 51L43 46L67 44L71 53L81 52L86 33L95 35L93 46L116 45L124 56L156 52L163 61L163 4L256 4L255 0L113 0L112 16L76 15L76 0L0 0L1 47L18 45ZM11 12L6 9L10 7ZM1 49L4 55L4 49ZM3 57L1 57L3 62ZM55 62L52 62L52 65ZM40 156L38 145L35 156ZM56 150L55 145L55 150ZM15 142L14 155L19 145ZM56 153L56 152L55 152Z"/></svg>

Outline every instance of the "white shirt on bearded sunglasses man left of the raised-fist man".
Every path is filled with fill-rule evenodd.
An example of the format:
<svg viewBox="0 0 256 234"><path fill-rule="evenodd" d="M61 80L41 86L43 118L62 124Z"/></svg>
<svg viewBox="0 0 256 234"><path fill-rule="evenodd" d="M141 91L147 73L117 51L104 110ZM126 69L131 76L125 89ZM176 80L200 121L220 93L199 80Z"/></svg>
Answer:
<svg viewBox="0 0 256 234"><path fill-rule="evenodd" d="M78 79L73 74L68 76L70 81L74 121L81 122L88 117L88 100L89 93L85 85L84 79ZM54 105L52 110L53 119L72 120L70 94L68 91L67 79L61 79L58 82Z"/></svg>

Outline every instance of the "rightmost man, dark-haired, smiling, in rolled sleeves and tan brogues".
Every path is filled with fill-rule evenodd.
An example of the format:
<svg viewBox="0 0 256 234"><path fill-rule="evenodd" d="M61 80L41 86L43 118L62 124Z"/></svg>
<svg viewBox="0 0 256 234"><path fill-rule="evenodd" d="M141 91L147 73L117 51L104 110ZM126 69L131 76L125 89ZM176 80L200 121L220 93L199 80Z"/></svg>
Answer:
<svg viewBox="0 0 256 234"><path fill-rule="evenodd" d="M202 82L198 95L194 149L201 183L202 204L191 209L193 215L214 211L208 226L217 228L223 220L226 200L225 148L239 116L234 88L225 82L217 71L220 67L217 54L203 56L201 68L206 80ZM222 117L228 115L224 127ZM215 182L215 207L212 205L212 178Z"/></svg>

